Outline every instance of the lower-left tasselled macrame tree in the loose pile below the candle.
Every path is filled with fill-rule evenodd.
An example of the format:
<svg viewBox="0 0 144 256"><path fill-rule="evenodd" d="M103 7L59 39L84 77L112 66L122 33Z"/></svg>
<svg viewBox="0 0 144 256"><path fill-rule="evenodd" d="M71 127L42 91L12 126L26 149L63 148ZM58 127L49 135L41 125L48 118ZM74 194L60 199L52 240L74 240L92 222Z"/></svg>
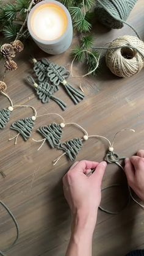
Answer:
<svg viewBox="0 0 144 256"><path fill-rule="evenodd" d="M34 86L42 103L49 103L50 100L54 100L62 110L67 108L67 105L62 100L54 96L54 93L57 91L56 86L49 84L47 81L37 84L32 76L27 76L27 80Z"/></svg>

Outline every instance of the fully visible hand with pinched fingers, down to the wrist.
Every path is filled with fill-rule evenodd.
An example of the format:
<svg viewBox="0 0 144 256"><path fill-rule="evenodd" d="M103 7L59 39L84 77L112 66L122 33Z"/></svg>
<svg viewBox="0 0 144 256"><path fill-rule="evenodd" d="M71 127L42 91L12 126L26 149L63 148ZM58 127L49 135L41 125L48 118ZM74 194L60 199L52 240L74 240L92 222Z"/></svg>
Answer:
<svg viewBox="0 0 144 256"><path fill-rule="evenodd" d="M71 213L78 216L82 222L91 222L92 229L95 229L101 202L101 182L106 166L106 162L76 162L63 177L63 190ZM95 169L95 172L88 177L91 169Z"/></svg>

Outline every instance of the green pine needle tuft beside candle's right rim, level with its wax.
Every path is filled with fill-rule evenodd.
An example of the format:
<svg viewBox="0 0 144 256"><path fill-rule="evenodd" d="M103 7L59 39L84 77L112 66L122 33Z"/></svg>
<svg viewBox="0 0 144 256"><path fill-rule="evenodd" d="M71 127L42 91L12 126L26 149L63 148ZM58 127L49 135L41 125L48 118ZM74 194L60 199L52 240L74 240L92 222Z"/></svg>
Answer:
<svg viewBox="0 0 144 256"><path fill-rule="evenodd" d="M90 29L92 29L92 24L85 20L85 18L82 18L81 20L74 21L74 27L79 32L90 32Z"/></svg>

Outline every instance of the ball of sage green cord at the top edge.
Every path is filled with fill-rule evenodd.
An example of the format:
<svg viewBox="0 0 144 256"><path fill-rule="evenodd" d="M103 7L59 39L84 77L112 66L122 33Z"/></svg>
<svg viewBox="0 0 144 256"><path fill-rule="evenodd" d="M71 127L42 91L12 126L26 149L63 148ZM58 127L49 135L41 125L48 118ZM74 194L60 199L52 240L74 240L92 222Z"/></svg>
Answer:
<svg viewBox="0 0 144 256"><path fill-rule="evenodd" d="M105 26L121 29L136 2L137 0L96 0L96 16Z"/></svg>

